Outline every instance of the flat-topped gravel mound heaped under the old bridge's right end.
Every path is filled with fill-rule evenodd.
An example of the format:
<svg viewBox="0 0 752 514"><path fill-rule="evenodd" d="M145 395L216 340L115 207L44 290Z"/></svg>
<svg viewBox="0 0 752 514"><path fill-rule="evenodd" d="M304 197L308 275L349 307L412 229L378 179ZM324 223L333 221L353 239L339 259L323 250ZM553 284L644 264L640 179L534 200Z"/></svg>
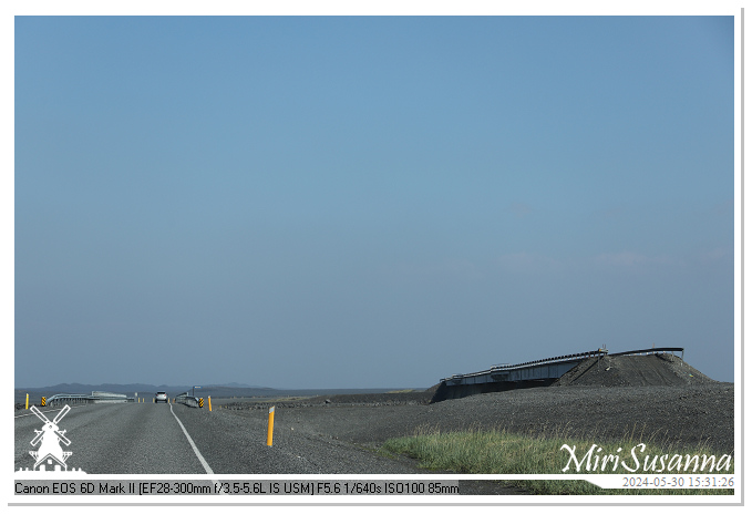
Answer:
<svg viewBox="0 0 752 514"><path fill-rule="evenodd" d="M718 383L671 353L593 357L584 360L552 386L692 386Z"/></svg>

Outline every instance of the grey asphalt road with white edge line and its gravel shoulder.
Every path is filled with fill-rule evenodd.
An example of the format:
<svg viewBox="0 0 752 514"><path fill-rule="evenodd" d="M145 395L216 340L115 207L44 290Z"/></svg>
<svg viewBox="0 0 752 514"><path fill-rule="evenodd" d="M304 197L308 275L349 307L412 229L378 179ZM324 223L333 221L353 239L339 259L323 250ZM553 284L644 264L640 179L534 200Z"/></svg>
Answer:
<svg viewBox="0 0 752 514"><path fill-rule="evenodd" d="M52 420L60 409L41 411ZM71 441L63 445L73 452L66 464L90 474L424 473L408 459L296 432L284 415L275 420L274 444L268 446L267 420L264 410L237 417L182 404L114 403L74 407L59 426ZM22 410L16 413L14 426L14 471L31 469L29 451L39 444L30 441L42 422Z"/></svg>

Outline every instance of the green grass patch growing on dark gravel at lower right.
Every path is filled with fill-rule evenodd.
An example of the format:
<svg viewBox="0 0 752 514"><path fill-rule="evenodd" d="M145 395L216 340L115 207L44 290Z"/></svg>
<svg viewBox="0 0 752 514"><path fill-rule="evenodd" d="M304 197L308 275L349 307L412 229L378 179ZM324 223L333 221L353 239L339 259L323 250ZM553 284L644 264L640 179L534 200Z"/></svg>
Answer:
<svg viewBox="0 0 752 514"><path fill-rule="evenodd" d="M581 462L579 472L576 470L575 462L571 461L571 453L563 445L566 444L575 451L576 459ZM590 470L586 470L585 455L588 450L596 444L590 459ZM432 470L446 470L463 474L567 474L567 473L611 473L629 475L621 462L630 469L635 469L635 461L631 456L632 448L641 444L638 439L625 438L622 441L597 442L586 440L573 440L563 438L558 434L519 434L506 431L463 431L463 432L439 432L423 431L413 436L390 439L382 445L383 452L404 454L421 461L422 467ZM601 449L600 451L598 449ZM710 465L704 471L700 471L702 455L715 455L715 462L721 459L721 454L713 452L704 444L694 448L676 448L671 443L663 444L655 441L638 446L636 455L639 458L639 469L637 475L645 474L707 474ZM619 456L619 461L611 459L606 467L601 467L602 455ZM660 456L669 455L665 459L663 471L660 471ZM676 469L674 464L669 471L668 466L673 455L681 455L681 470ZM693 464L684 471L684 455L699 455L698 471L692 471ZM598 456L598 467L594 466L595 458ZM645 458L649 456L646 465ZM656 458L655 467L651 463ZM614 463L617 463L616 470ZM569 471L564 473L567 464ZM647 471L646 471L647 467ZM655 471L650 471L655 470ZM733 458L729 471L725 465L722 470L713 470L718 474L733 474ZM721 489L682 489L682 490L604 490L581 480L571 481L513 481L509 485L524 487L534 494L733 494L732 490Z"/></svg>

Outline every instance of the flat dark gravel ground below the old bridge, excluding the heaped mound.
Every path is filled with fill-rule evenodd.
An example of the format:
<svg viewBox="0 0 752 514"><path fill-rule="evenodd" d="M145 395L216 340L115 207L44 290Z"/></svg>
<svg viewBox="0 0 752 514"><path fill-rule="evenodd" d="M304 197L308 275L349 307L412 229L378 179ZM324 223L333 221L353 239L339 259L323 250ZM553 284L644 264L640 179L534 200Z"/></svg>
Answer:
<svg viewBox="0 0 752 514"><path fill-rule="evenodd" d="M284 417L296 431L363 445L380 445L387 439L421 431L495 429L594 442L627 438L637 444L652 440L672 443L674 449L705 442L723 453L734 449L734 389L733 383L725 382L521 389L433 404L415 398L399 403L395 394L368 397L358 402L338 397L288 405L279 402L276 415ZM268 405L230 402L223 408L250 415L253 408Z"/></svg>

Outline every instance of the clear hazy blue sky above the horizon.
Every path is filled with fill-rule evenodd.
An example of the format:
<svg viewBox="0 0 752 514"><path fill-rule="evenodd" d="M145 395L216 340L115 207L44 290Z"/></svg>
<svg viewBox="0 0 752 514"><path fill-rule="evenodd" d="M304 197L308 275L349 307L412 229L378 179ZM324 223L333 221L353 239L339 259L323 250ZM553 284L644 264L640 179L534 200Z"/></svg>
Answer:
<svg viewBox="0 0 752 514"><path fill-rule="evenodd" d="M731 17L14 29L17 387L734 379Z"/></svg>

